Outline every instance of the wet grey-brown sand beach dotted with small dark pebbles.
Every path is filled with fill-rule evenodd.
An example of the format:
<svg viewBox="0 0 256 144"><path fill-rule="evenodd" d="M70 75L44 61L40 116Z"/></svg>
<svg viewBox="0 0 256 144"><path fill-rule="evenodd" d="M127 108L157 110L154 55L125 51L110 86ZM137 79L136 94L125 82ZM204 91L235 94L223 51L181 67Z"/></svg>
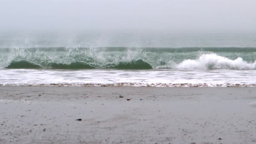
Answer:
<svg viewBox="0 0 256 144"><path fill-rule="evenodd" d="M256 144L256 88L0 86L9 143Z"/></svg>

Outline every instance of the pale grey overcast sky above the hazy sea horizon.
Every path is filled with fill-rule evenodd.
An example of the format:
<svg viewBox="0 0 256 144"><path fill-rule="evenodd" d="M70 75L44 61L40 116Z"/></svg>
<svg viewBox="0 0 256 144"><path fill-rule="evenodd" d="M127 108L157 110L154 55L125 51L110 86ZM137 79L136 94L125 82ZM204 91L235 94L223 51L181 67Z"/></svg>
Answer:
<svg viewBox="0 0 256 144"><path fill-rule="evenodd" d="M256 29L256 0L0 0L0 29Z"/></svg>

